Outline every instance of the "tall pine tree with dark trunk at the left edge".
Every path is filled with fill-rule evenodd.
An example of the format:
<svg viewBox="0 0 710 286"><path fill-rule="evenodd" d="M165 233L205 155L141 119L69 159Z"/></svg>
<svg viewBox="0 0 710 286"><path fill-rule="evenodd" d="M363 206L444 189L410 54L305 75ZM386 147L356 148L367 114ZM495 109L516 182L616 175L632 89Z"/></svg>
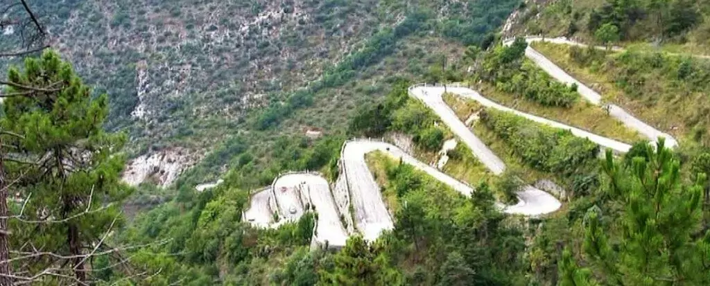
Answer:
<svg viewBox="0 0 710 286"><path fill-rule="evenodd" d="M26 59L23 70L11 67L8 81L6 93L18 96L4 101L0 130L13 146L10 193L23 201L9 221L11 246L32 257L28 273L53 269L40 279L92 280L89 258L112 253L107 237L121 226L121 201L131 192L119 182L125 136L103 130L107 95L92 98L53 51Z"/></svg>

